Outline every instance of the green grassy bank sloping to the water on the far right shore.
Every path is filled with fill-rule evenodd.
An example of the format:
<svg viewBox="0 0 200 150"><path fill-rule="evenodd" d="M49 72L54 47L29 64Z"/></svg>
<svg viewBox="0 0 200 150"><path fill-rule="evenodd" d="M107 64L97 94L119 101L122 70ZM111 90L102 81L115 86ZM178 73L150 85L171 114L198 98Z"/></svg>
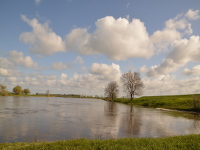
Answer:
<svg viewBox="0 0 200 150"><path fill-rule="evenodd" d="M124 104L131 104L131 100L128 98L116 98L114 101ZM200 109L194 109L191 95L144 96L133 99L132 104L152 108L166 108L200 112Z"/></svg>

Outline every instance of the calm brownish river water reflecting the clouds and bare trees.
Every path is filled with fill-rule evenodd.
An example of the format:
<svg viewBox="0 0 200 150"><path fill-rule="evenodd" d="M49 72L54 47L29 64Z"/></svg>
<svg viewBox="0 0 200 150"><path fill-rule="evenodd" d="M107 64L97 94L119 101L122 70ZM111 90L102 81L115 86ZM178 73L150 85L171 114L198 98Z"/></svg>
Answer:
<svg viewBox="0 0 200 150"><path fill-rule="evenodd" d="M0 97L0 143L200 134L200 115L98 99Z"/></svg>

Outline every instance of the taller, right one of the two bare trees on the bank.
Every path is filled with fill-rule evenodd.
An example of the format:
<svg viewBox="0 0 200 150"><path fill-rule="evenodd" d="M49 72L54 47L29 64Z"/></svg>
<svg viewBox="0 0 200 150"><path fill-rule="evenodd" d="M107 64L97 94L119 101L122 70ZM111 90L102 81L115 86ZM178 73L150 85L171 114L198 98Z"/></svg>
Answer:
<svg viewBox="0 0 200 150"><path fill-rule="evenodd" d="M131 101L134 95L140 96L143 94L144 84L141 80L140 73L138 72L126 72L121 76L121 81L126 92L130 97Z"/></svg>

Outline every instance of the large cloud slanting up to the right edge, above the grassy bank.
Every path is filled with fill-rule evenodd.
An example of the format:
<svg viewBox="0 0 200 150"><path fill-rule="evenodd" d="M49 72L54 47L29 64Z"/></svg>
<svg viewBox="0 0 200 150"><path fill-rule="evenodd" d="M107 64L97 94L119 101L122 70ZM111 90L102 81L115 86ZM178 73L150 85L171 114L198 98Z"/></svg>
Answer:
<svg viewBox="0 0 200 150"><path fill-rule="evenodd" d="M200 61L200 37L191 36L189 40L180 39L173 43L173 49L158 66L152 66L147 76L168 74L178 70L190 61Z"/></svg>

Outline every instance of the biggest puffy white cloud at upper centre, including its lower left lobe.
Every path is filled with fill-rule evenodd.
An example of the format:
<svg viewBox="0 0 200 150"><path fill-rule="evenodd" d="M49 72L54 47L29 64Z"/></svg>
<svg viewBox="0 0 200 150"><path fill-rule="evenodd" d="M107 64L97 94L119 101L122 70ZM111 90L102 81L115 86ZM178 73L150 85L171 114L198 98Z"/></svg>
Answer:
<svg viewBox="0 0 200 150"><path fill-rule="evenodd" d="M104 54L113 60L149 58L153 49L146 27L139 19L129 22L112 16L97 20L96 29L74 29L66 37L66 46L83 55Z"/></svg>

